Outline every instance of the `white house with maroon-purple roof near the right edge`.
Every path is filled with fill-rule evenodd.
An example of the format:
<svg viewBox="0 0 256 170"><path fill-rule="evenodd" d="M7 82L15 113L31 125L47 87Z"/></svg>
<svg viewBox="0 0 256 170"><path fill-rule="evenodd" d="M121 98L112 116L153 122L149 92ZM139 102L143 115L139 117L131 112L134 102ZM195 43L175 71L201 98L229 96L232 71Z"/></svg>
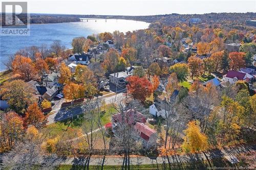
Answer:
<svg viewBox="0 0 256 170"><path fill-rule="evenodd" d="M247 77L248 75L249 74L245 74L244 72L230 70L223 76L222 81L229 82L230 84L234 84L239 80L249 82L250 78Z"/></svg>

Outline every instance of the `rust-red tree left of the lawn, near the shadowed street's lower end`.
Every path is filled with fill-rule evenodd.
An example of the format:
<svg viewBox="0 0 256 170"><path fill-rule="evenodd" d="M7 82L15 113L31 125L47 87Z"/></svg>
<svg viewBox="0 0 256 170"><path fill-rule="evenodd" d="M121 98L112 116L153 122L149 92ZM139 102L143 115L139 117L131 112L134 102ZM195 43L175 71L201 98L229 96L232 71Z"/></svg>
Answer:
<svg viewBox="0 0 256 170"><path fill-rule="evenodd" d="M25 113L24 125L33 125L36 128L44 127L47 123L47 116L41 112L37 103L30 105Z"/></svg>

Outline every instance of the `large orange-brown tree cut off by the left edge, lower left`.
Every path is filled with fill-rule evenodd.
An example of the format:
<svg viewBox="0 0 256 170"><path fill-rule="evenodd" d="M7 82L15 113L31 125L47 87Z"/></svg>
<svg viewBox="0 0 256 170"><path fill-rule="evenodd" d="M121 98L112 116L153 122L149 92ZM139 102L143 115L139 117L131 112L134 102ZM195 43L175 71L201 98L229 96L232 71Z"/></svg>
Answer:
<svg viewBox="0 0 256 170"><path fill-rule="evenodd" d="M11 150L24 135L23 118L11 111L2 115L0 122L0 152Z"/></svg>

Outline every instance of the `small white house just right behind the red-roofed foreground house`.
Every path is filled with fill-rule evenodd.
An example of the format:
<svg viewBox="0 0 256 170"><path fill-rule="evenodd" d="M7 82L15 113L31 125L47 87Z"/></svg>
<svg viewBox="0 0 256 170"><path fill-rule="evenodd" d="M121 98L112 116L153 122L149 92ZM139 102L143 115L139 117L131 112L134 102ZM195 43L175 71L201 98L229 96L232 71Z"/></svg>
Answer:
<svg viewBox="0 0 256 170"><path fill-rule="evenodd" d="M178 98L179 91L174 90L173 94L170 96L170 103L175 103ZM165 114L170 111L170 105L169 102L166 101L166 99L158 101L155 100L154 103L150 106L150 114L153 116L161 116L165 118Z"/></svg>

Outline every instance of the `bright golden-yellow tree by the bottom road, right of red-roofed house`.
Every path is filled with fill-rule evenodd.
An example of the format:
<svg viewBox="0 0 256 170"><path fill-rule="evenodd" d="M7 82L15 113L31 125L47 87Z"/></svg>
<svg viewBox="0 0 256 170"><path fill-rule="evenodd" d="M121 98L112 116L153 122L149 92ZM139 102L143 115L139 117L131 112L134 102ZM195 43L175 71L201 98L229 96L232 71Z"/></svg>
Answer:
<svg viewBox="0 0 256 170"><path fill-rule="evenodd" d="M185 137L182 148L185 152L195 153L207 149L207 137L200 132L200 127L196 121L187 124L188 128L184 130Z"/></svg>

